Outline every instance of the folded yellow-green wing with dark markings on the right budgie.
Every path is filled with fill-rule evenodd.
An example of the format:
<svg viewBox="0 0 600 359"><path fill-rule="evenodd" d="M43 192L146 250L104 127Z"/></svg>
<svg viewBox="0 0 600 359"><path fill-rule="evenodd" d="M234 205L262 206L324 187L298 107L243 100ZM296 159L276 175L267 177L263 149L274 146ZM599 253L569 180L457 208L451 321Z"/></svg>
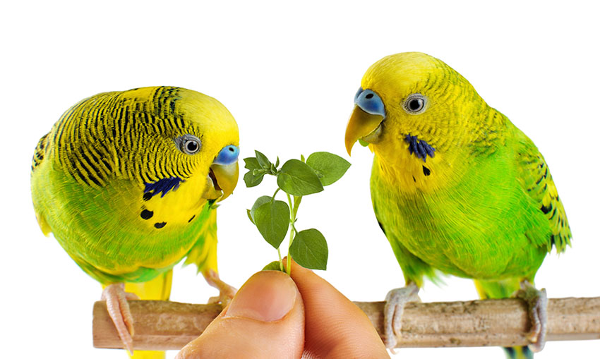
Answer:
<svg viewBox="0 0 600 359"><path fill-rule="evenodd" d="M566 246L571 244L571 231L565 208L558 197L558 191L552 181L546 160L532 140L523 133L520 135L517 145L518 179L522 189L548 219L551 235L548 238L542 238L548 245L548 251L555 246L558 252L563 252Z"/></svg>

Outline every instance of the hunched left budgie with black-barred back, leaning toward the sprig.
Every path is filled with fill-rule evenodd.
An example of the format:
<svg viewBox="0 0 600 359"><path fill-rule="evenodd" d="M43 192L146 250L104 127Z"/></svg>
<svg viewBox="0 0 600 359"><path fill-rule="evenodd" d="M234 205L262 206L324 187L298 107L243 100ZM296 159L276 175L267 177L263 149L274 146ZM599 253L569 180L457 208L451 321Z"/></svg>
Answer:
<svg viewBox="0 0 600 359"><path fill-rule="evenodd" d="M127 299L167 300L172 268L194 263L220 300L217 202L238 179L239 131L216 99L180 87L104 92L68 109L37 144L37 221L104 290L133 353ZM136 351L135 358L164 358Z"/></svg>

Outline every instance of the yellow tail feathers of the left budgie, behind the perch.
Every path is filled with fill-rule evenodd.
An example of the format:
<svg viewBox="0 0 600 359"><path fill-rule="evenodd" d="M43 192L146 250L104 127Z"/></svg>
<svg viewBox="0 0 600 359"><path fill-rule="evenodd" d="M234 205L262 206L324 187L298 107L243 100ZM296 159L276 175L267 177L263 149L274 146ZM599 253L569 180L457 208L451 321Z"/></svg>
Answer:
<svg viewBox="0 0 600 359"><path fill-rule="evenodd" d="M169 300L171 295L171 284L173 281L173 270L169 270L151 281L143 283L126 283L125 291L136 293L143 300ZM135 323L133 326L135 327ZM164 359L164 351L133 351L133 359Z"/></svg>

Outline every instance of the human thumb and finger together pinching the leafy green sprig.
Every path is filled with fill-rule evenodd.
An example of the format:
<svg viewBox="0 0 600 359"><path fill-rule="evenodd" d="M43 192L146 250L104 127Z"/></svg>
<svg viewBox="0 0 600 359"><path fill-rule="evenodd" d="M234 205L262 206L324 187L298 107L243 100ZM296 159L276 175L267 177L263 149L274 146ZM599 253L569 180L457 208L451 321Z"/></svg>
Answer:
<svg viewBox="0 0 600 359"><path fill-rule="evenodd" d="M304 355L304 356L303 356ZM176 356L389 358L368 317L331 284L292 262L292 277L258 272Z"/></svg>

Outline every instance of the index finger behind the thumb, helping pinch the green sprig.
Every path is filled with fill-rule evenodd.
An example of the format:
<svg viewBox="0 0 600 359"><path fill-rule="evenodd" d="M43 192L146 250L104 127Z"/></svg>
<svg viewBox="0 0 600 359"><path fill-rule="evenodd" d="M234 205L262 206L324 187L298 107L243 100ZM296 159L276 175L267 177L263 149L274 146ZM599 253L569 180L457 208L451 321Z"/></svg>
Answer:
<svg viewBox="0 0 600 359"><path fill-rule="evenodd" d="M305 358L389 358L368 317L325 279L292 261L302 300Z"/></svg>

